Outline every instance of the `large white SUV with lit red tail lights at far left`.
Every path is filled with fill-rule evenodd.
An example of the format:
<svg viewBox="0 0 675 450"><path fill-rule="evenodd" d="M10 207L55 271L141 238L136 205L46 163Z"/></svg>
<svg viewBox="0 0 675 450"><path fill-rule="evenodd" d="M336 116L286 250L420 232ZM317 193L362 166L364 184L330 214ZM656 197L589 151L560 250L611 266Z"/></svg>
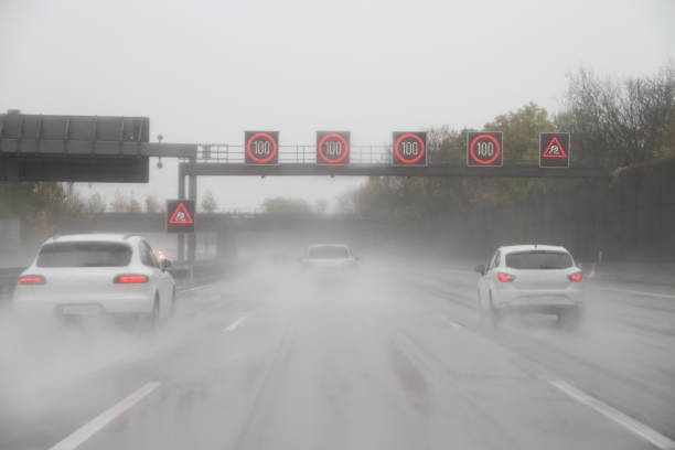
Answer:
<svg viewBox="0 0 675 450"><path fill-rule="evenodd" d="M13 306L19 313L136 317L154 324L173 311L170 265L137 235L55 236L19 277Z"/></svg>

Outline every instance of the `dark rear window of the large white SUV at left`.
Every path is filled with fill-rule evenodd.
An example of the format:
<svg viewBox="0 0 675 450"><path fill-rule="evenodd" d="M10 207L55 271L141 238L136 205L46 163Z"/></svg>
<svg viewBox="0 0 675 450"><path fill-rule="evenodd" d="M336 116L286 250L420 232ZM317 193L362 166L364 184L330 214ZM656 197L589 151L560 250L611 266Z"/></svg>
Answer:
<svg viewBox="0 0 675 450"><path fill-rule="evenodd" d="M131 247L117 243L46 244L38 255L38 267L122 267L131 260Z"/></svg>

